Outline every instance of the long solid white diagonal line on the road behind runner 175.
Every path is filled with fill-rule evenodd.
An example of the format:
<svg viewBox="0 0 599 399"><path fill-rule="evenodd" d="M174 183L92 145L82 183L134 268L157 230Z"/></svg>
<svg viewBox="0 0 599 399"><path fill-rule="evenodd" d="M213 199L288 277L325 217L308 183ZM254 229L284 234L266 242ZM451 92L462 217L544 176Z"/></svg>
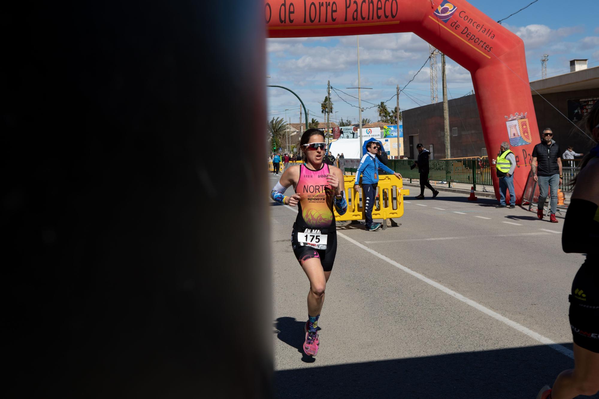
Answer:
<svg viewBox="0 0 599 399"><path fill-rule="evenodd" d="M283 206L288 207L289 209L291 209L292 211L297 213L297 208L294 209L294 208L290 207L289 205L283 205ZM543 234L543 233L528 233L528 234ZM358 241L354 240L353 238L347 237L347 235L345 235L341 232L337 232L337 235L340 235L341 237L345 238L350 243L366 250L367 252L372 253L374 256L377 256L377 258L383 259L383 261L394 265L398 269L403 270L408 274L412 274L412 276L416 277L417 279L419 279L429 285L432 285L434 288L437 288L440 291L443 291L445 294L450 295L453 298L456 298L456 300L462 301L465 304L470 305L474 309L480 310L480 312L485 313L485 315L491 316L495 320L498 320L506 325L509 325L509 327L512 327L514 330L520 331L521 333L528 335L528 337L531 337L534 340L539 341L540 343L546 344L551 349L555 349L559 353L562 353L562 355L566 355L566 356L568 356L568 358L574 359L574 352L572 352L567 347L561 346L560 344L553 342L549 338L544 337L543 335L541 335L539 333L535 333L533 330L529 330L528 328L524 327L523 325L518 324L515 321L512 321L504 316L501 316L499 313L494 312L491 309L488 309L488 308L482 306L481 304L464 297L464 295L458 294L458 292L452 291L451 289L447 288L446 286L440 285L439 283L429 279L428 277L425 277L420 273L416 273L416 271L413 271L403 265L398 264L398 262L395 262L393 259L387 258L385 255L382 255L381 253L378 253L375 250L368 248L364 244L359 243Z"/></svg>

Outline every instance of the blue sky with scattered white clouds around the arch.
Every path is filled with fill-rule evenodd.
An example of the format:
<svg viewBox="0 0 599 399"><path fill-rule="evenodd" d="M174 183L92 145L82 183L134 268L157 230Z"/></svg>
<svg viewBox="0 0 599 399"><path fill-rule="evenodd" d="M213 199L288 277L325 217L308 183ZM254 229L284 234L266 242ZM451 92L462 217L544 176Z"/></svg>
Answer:
<svg viewBox="0 0 599 399"><path fill-rule="evenodd" d="M494 20L503 19L525 7L532 0L476 1L479 8ZM524 40L530 80L541 78L543 54L549 55L547 76L570 71L571 59L588 59L589 68L599 66L599 22L595 11L597 3L590 0L564 2L539 0L526 10L502 22ZM360 76L362 107L372 107L364 101L379 104L395 94L395 86L403 87L428 58L428 43L412 33L361 35ZM441 65L441 58L437 56ZM358 96L356 36L326 38L267 39L267 84L277 84L294 90L304 101L312 117L323 121L320 102L326 96L326 81L331 86ZM473 90L470 72L447 59L448 97L457 98ZM334 104L332 120L349 117L357 123L358 100L343 93L340 99L331 91ZM441 100L441 73L438 72L438 96ZM268 120L273 117L291 117L299 122L299 101L283 89L268 87ZM400 95L400 108L410 109L431 102L428 63ZM396 105L393 98L387 103L390 110ZM335 111L337 113L335 114ZM362 112L362 117L376 121L376 107ZM303 118L303 117L302 117ZM303 119L302 119L303 120Z"/></svg>

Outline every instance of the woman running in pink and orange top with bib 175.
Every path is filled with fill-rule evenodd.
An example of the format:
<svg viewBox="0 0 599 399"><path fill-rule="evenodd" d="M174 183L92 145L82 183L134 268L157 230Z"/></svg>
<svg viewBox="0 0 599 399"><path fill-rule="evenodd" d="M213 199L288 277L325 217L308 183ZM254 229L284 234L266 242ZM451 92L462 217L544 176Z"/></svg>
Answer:
<svg viewBox="0 0 599 399"><path fill-rule="evenodd" d="M337 231L333 205L339 214L347 211L343 174L339 168L326 165L325 137L318 129L302 134L299 149L304 164L285 170L274 186L271 197L280 204L298 206L298 216L291 232L295 257L310 280L308 291L308 321L304 325L304 353L315 356L319 337L317 324L325 300L325 286L331 276L337 252ZM285 196L294 186L295 194Z"/></svg>

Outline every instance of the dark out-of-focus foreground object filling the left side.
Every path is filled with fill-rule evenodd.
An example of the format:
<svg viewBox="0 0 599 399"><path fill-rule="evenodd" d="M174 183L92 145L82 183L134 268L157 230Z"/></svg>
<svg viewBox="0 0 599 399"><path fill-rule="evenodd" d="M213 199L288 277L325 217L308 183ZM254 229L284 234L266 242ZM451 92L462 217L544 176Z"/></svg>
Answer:
<svg viewBox="0 0 599 399"><path fill-rule="evenodd" d="M2 13L7 397L270 396L262 7L161 3Z"/></svg>

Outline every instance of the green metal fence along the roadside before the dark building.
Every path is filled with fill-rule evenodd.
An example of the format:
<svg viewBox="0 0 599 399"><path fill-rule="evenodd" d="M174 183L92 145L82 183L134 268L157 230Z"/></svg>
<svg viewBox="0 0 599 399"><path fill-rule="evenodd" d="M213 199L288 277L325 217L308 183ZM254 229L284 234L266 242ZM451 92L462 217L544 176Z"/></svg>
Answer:
<svg viewBox="0 0 599 399"><path fill-rule="evenodd" d="M390 159L387 166L401 173L404 180L410 179L410 183L412 183L412 179L420 179L418 168L410 169L413 164L412 159ZM467 183L474 186L476 190L477 184L485 186L493 184L489 159L431 159L428 165L428 179L447 182L447 186L450 186L451 183ZM356 168L344 168L346 172L356 173Z"/></svg>

